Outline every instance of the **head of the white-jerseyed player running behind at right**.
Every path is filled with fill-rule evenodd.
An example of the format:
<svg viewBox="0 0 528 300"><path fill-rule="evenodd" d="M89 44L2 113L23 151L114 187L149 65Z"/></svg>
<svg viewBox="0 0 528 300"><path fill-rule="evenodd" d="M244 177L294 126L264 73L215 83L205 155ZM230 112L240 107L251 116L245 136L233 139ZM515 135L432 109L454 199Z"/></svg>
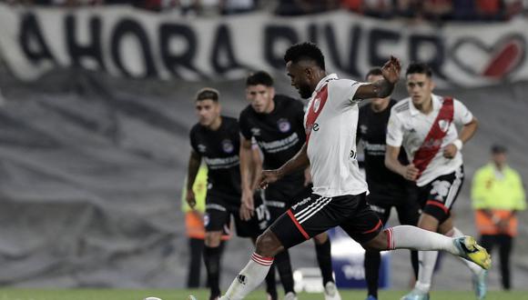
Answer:
<svg viewBox="0 0 528 300"><path fill-rule="evenodd" d="M431 100L434 83L432 82L432 70L429 65L423 63L411 63L407 68L407 92L411 96L414 105L423 105Z"/></svg>

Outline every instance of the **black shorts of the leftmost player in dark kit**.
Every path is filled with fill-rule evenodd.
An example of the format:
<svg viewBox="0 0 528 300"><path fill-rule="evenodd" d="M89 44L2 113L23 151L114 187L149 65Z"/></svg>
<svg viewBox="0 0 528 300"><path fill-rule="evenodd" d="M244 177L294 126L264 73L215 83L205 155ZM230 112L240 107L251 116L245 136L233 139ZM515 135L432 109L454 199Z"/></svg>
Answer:
<svg viewBox="0 0 528 300"><path fill-rule="evenodd" d="M249 221L240 219L240 198L208 195L204 225L206 232L226 231L229 228L230 215L235 219L235 228L240 237L257 237L269 225L269 212L259 195L254 195L255 214Z"/></svg>

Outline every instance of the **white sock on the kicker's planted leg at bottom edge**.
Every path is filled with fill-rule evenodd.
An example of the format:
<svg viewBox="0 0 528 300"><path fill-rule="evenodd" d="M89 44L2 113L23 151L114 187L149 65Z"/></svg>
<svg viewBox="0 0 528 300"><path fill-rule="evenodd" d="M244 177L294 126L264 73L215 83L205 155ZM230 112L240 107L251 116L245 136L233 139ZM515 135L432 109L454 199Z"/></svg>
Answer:
<svg viewBox="0 0 528 300"><path fill-rule="evenodd" d="M220 300L243 299L264 281L272 264L273 257L264 257L253 253L248 265L240 271L237 278L229 285L226 295L221 296Z"/></svg>

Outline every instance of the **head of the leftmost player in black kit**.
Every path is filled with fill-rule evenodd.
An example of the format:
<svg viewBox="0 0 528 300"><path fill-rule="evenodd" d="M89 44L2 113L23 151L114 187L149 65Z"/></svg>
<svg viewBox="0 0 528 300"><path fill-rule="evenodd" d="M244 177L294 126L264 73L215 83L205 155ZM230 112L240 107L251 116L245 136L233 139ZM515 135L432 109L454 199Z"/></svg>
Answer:
<svg viewBox="0 0 528 300"><path fill-rule="evenodd" d="M219 95L216 89L210 87L198 91L195 107L200 125L209 127L218 122L220 117Z"/></svg>

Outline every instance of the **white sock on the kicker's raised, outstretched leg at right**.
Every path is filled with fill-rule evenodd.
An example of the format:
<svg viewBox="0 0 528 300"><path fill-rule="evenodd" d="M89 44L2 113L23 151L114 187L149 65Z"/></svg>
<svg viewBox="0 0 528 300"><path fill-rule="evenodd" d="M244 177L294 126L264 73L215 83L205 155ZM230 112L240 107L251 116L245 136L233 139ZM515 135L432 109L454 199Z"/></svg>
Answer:
<svg viewBox="0 0 528 300"><path fill-rule="evenodd" d="M459 255L452 238L427 231L416 226L399 225L385 229L388 249L412 249L423 251L443 250Z"/></svg>

